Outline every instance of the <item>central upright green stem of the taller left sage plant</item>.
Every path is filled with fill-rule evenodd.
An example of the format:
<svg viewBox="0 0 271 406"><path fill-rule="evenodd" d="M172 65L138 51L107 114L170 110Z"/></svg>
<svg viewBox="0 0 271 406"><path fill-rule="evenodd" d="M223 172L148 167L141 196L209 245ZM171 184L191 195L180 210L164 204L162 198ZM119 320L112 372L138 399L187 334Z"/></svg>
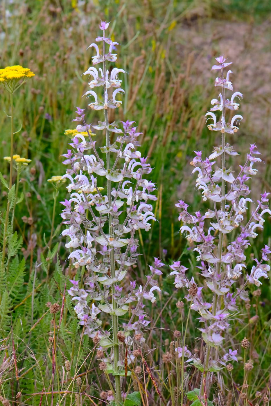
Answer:
<svg viewBox="0 0 271 406"><path fill-rule="evenodd" d="M103 37L105 38L105 31L103 31ZM106 67L105 67L105 41L103 41L103 77L105 80L105 75L106 75ZM106 86L105 82L103 85L103 97L104 97L104 103L105 103L105 94L106 94ZM109 137L109 130L108 130L108 114L107 114L107 108L105 110L105 125L106 125L106 147L107 147L107 153L106 153L106 168L108 174L110 173L110 137ZM108 196L108 206L109 208L112 205L112 200L111 200L111 180L107 179L107 196ZM114 231L113 231L113 226L112 226L112 214L109 212L108 213L108 223L109 223L109 235L110 238L114 238ZM110 251L110 270L111 270L111 278L116 277L116 268L115 268L115 253L114 253L114 248L111 249ZM114 285L111 285L111 294L112 294L112 309L117 308L117 303L114 299L114 294L115 294L115 289ZM113 329L113 343L114 343L114 372L118 373L118 361L120 358L120 352L119 352L119 346L118 346L118 316L112 314L112 329ZM121 389L120 389L120 376L115 375L115 386L116 386L116 400L117 402L121 402Z"/></svg>

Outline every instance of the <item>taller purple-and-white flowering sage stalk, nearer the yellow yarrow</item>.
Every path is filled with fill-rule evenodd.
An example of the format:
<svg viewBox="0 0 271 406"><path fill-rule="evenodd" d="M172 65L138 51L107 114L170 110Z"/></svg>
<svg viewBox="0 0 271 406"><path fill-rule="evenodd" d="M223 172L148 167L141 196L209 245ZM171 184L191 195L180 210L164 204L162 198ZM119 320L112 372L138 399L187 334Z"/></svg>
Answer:
<svg viewBox="0 0 271 406"><path fill-rule="evenodd" d="M122 129L115 121L109 123L107 110L118 108L122 104L116 96L124 93L120 88L122 81L118 74L125 71L115 67L109 75L106 63L116 61L117 54L112 52L118 43L105 37L108 26L109 23L101 22L103 36L97 37L96 43L90 45L96 50L96 55L92 57L93 65L102 63L103 67L99 71L90 67L84 73L93 78L89 82L90 89L100 86L103 88L102 101L93 90L87 91L85 95L94 97L94 102L90 102L89 107L104 110L105 121L90 125L86 122L84 110L76 110L77 117L74 121L80 124L77 125L70 143L74 152L68 149L63 162L71 166L63 178L71 182L67 187L68 192L74 192L71 193L70 200L61 202L65 206L61 216L64 223L69 225L62 233L70 238L66 247L76 248L70 253L69 259L74 260L75 268L86 269L84 286L79 286L79 281L71 281L72 287L68 293L76 301L74 309L80 324L84 326L84 334L91 337L96 346L99 344L97 357L101 361L100 369L105 371L106 376L112 374L115 378L114 397L119 404L122 397L125 397L125 388L122 395L120 381L120 377L125 376L125 363L134 363L134 343L139 346L145 341L142 329L149 324L145 320L142 300L155 302L154 292L160 292L160 288L156 286L154 276L162 274L159 268L164 264L155 258L154 264L150 266L151 275L147 276L143 287L140 285L136 288L136 281L131 279L131 275L130 283L125 282L127 272L139 255L136 252L138 240L135 233L139 229L149 231L151 228L150 221L155 221L156 218L152 205L147 202L157 198L151 194L156 189L155 184L144 179L144 175L151 173L152 168L146 163L146 158L141 157L140 151L137 151L140 145L138 136L141 133L133 127L134 121L122 122ZM103 43L102 54L97 45L99 42ZM108 45L109 52L106 52ZM113 90L114 88L116 89ZM91 127L105 131L105 146L100 147L101 153L96 149L96 141L92 138L95 134ZM66 130L67 134L72 134L73 131ZM110 133L117 134L113 144L110 142ZM91 155L85 153L89 150L92 150ZM103 154L106 162L102 158ZM100 184L103 177L106 178L106 190L97 186L97 177L94 176L99 177ZM91 307L88 305L90 301ZM129 322L122 323L120 331L118 318L127 313L128 304L132 302L137 302L137 305L132 308ZM98 318L99 313L101 315ZM111 331L105 331L101 327L103 315L111 316ZM123 352L124 345L125 348L127 346L127 360ZM108 354L109 349L112 349L111 354ZM108 401L113 399L110 396Z"/></svg>

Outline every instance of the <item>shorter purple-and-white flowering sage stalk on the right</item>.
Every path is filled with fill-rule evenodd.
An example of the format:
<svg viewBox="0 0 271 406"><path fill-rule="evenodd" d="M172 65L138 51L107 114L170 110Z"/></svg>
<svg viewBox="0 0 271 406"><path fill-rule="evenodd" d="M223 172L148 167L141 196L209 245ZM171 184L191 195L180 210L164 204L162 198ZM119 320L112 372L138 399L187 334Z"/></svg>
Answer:
<svg viewBox="0 0 271 406"><path fill-rule="evenodd" d="M246 182L251 179L251 176L256 175L257 170L253 168L254 163L261 162L255 144L250 145L247 160L244 166L241 166L236 178L233 175L232 168L226 167L225 156L238 155L233 147L225 143L225 134L235 134L238 131L236 122L243 119L240 114L234 115L230 123L226 123L225 112L227 110L238 110L239 103L236 102L236 97L240 98L243 95L240 92L232 94L231 99L226 99L225 90L233 91L232 82L229 81L229 75L232 71L228 71L226 79L224 78L225 67L231 65L231 62L226 62L223 56L216 58L218 65L214 65L212 70L221 72L221 77L216 78L215 86L222 88L222 93L218 99L212 99L212 107L210 112L206 114L212 123L208 124L210 131L221 132L222 143L219 147L214 147L213 153L208 157L202 158L202 151L195 151L196 156L191 164L195 166L192 173L197 172L198 177L196 186L202 190L203 201L207 199L211 202L211 208L204 215L201 212L196 212L195 215L188 213L188 205L180 200L176 204L181 209L179 220L183 223L181 233L186 233L186 238L189 242L197 243L194 251L198 253L197 260L201 261L201 276L206 278L206 285L213 294L212 303L205 300L206 288L198 287L194 277L189 280L185 274L187 268L181 265L180 261L176 261L170 266L172 272L170 275L175 276L175 287L186 287L188 294L186 299L190 301L191 309L199 312L199 320L204 323L204 327L200 328L202 338L206 343L205 359L203 364L196 355L192 356L191 352L185 347L178 348L179 357L188 357L188 361L193 362L197 368L203 373L208 371L216 371L221 369L219 366L226 366L225 361L237 361L237 350L229 349L228 352L223 349L222 343L227 334L229 322L234 318L238 307L236 300L248 300L248 294L245 291L247 283L252 283L260 286L260 277L267 278L267 272L270 270L267 261L267 255L271 253L266 245L262 249L262 258L260 261L255 259L256 266L252 266L250 274L247 275L247 281L242 287L237 287L234 292L234 283L242 275L245 265L245 250L250 245L248 238L256 238L256 229L263 228L263 215L268 213L268 194L261 194L261 199L257 201L258 205L251 214L251 218L246 222L245 213L247 211L247 202L253 203L247 196L250 193ZM221 112L221 117L218 121L214 112ZM212 166L216 163L214 159L221 156L221 168L216 166L215 170ZM220 203L218 210L216 204ZM210 222L210 227L206 227L205 220L214 219ZM227 251L223 252L223 237L224 234L231 233L238 229L237 237L234 241L227 245ZM214 231L219 231L218 240ZM229 239L230 240L230 239ZM204 296L203 296L204 294ZM220 299L220 300L219 300ZM218 359L212 358L212 348L219 347L222 356ZM218 353L218 352L216 352ZM204 385L201 381L200 395L203 399Z"/></svg>

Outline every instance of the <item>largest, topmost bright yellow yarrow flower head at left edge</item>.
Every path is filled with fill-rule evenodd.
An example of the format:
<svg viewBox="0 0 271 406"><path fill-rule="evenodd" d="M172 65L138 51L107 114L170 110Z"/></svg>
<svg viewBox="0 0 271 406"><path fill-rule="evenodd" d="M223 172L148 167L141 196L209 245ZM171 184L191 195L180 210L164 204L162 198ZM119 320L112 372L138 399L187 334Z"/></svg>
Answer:
<svg viewBox="0 0 271 406"><path fill-rule="evenodd" d="M35 76L29 68L24 68L20 65L7 66L0 69L0 83L2 83L9 92L13 93L20 79L32 78Z"/></svg>

